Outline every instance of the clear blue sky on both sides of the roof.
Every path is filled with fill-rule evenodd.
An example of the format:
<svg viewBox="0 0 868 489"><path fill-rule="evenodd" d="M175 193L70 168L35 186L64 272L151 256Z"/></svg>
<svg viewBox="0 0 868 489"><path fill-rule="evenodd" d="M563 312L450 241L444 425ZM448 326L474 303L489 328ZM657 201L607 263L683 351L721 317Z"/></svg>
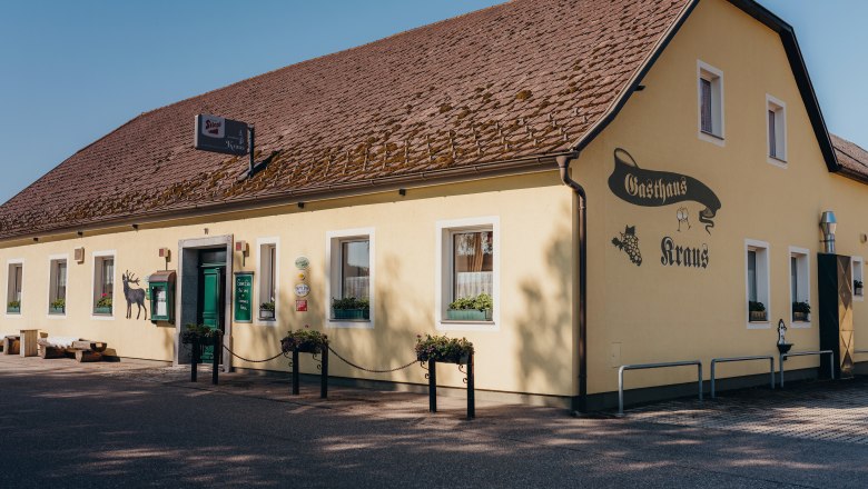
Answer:
<svg viewBox="0 0 868 489"><path fill-rule="evenodd" d="M0 202L136 114L500 0L0 0ZM868 1L761 0L868 148ZM861 120L860 120L861 119Z"/></svg>

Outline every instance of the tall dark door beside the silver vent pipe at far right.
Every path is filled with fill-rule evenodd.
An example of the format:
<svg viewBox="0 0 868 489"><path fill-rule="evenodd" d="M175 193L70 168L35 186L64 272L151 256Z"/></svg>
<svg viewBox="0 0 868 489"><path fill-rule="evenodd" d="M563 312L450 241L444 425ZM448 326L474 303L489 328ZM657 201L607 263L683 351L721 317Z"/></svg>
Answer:
<svg viewBox="0 0 868 489"><path fill-rule="evenodd" d="M852 377L855 349L852 330L852 270L850 257L819 253L817 280L820 295L820 349L832 350L835 377ZM820 361L820 376L829 377L829 366Z"/></svg>

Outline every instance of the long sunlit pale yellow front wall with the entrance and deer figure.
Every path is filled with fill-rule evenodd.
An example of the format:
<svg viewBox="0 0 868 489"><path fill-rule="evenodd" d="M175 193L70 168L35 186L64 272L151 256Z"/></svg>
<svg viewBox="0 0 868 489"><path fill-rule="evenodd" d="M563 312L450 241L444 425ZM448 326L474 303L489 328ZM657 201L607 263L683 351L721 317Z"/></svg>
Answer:
<svg viewBox="0 0 868 489"><path fill-rule="evenodd" d="M257 239L278 238L279 299L277 326L233 323L234 350L241 357L264 359L279 351L279 339L289 329L309 326L328 335L341 355L362 366L387 369L414 359L416 335L436 333L435 249L436 223L443 220L496 217L500 220L500 321L490 331L447 331L466 337L476 348L479 389L570 396L576 371L572 326L571 242L572 192L552 171L520 177L479 180L450 186L323 202L304 209L286 207L196 220L141 224L106 233L40 242L6 243L0 266L24 260L22 312L0 316L0 332L39 328L51 336L78 336L102 340L121 357L170 361L175 358L176 328L155 326L144 319L126 319L121 273L141 279L162 270L159 248L171 250L169 269L178 268L179 240L230 234L249 243L244 260L234 256L234 271L256 270ZM205 229L207 228L207 236ZM373 329L337 329L327 326L325 278L326 233L373 228L375 249L375 323ZM76 263L73 249L83 247L86 260ZM95 251L114 250L116 267L115 309L111 320L91 318ZM49 256L69 255L67 315L49 318ZM307 312L295 310L295 260L307 257L310 293ZM230 279L231 276L229 276ZM6 269L2 280L7 279ZM180 288L180 273L178 278ZM255 277L254 305L258 297ZM4 283L3 283L4 287ZM3 289L6 290L6 289ZM149 305L149 302L147 302ZM256 308L255 308L256 309ZM256 316L257 310L254 311ZM309 356L302 356L303 371L316 373ZM338 377L425 383L418 366L395 373L365 373L332 357L329 373ZM48 360L47 360L48 361ZM286 359L267 363L233 360L235 367L288 370ZM463 387L456 368L441 366L440 383Z"/></svg>

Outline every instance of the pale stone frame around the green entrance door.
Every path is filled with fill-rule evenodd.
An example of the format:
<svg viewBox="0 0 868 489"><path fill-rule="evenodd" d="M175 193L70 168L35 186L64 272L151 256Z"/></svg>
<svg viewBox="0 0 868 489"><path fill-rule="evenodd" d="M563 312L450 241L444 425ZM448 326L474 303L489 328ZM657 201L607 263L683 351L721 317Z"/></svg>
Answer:
<svg viewBox="0 0 868 489"><path fill-rule="evenodd" d="M233 253L233 234L209 236L207 238L194 238L178 240L178 286L177 286L177 300L175 301L175 317L177 319L175 328L175 358L172 365L177 366L181 363L181 360L189 362L189 359L181 358L183 346L180 343L180 332L184 325L187 322L196 322L196 309L198 303L198 280L199 280L199 260L198 252L203 249L226 248L226 283L224 286L225 300L225 325L223 345L227 348L231 348L233 338L233 287L231 271L234 267L234 253ZM196 283L196 285L191 285ZM193 313L190 315L190 310ZM223 370L233 371L233 356L223 356Z"/></svg>

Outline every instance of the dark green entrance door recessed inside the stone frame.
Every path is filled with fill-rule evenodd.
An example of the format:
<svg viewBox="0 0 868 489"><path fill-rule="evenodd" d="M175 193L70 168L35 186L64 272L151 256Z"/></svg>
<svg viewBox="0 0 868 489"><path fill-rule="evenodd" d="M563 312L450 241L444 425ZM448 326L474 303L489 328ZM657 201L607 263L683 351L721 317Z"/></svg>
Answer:
<svg viewBox="0 0 868 489"><path fill-rule="evenodd" d="M199 250L199 297L196 319L199 325L226 332L226 249ZM220 355L218 351L217 355ZM205 347L201 360L214 360L214 346Z"/></svg>

